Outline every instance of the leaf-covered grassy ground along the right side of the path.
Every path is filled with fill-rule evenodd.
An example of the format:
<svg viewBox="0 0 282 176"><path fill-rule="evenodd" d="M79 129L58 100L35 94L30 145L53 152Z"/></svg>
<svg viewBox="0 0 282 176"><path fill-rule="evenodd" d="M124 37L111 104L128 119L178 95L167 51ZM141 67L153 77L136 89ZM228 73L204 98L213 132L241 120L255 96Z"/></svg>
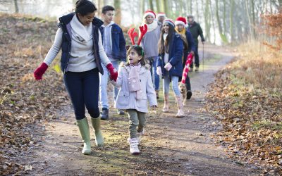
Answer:
<svg viewBox="0 0 282 176"><path fill-rule="evenodd" d="M240 56L216 75L207 110L223 125L215 136L229 156L257 165L266 175L282 174L282 14L262 17L275 42L247 42ZM269 40L271 41L271 40Z"/></svg>

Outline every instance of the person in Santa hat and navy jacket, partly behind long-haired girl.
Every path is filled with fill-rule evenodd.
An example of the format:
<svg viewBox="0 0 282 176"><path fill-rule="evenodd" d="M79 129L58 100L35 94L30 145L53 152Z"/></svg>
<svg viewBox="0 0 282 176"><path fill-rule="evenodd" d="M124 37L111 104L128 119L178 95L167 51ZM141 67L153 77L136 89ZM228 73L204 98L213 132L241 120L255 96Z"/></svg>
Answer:
<svg viewBox="0 0 282 176"><path fill-rule="evenodd" d="M184 54L183 54L184 56L183 57L183 68L184 68L188 54L189 53L192 53L192 55L195 54L195 42L194 42L191 32L185 29L185 26L187 25L186 18L184 17L176 18L175 24L176 24L176 32L178 32L178 34L182 34L188 43L188 49L184 51ZM187 89L187 99L190 99L192 96L192 91L191 91L190 78L188 75L187 75L185 84L186 84L186 89Z"/></svg>

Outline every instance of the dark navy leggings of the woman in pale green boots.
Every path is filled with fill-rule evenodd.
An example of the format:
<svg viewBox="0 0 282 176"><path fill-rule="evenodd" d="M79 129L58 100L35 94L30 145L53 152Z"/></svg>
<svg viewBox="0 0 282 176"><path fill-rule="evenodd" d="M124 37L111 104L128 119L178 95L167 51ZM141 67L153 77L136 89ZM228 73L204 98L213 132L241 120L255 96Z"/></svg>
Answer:
<svg viewBox="0 0 282 176"><path fill-rule="evenodd" d="M99 72L97 68L86 72L66 72L63 75L68 94L75 110L76 120L85 118L85 106L92 118L100 115L99 98Z"/></svg>

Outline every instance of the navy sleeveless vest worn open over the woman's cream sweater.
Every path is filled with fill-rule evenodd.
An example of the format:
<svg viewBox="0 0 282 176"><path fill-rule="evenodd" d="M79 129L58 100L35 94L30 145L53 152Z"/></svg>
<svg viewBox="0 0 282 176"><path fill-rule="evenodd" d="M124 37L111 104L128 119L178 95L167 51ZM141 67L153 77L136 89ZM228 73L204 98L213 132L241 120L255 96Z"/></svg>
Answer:
<svg viewBox="0 0 282 176"><path fill-rule="evenodd" d="M75 13L69 13L68 15L64 15L59 18L59 25L63 30L63 41L61 45L61 70L63 73L66 72L68 68L68 62L71 58L71 20L73 19L73 15ZM93 35L93 51L95 57L95 63L99 70L99 73L104 74L104 70L102 68L101 59L99 56L99 27L103 25L103 21L98 18L94 18L92 20L92 35Z"/></svg>

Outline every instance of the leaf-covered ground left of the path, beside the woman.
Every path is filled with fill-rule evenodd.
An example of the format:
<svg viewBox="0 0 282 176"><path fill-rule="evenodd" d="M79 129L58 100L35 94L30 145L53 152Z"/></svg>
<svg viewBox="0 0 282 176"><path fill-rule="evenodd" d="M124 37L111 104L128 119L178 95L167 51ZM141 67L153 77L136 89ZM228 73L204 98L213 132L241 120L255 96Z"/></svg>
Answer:
<svg viewBox="0 0 282 176"><path fill-rule="evenodd" d="M0 22L0 175L21 175L32 170L23 158L40 146L44 122L68 100L58 61L44 81L32 74L52 44L56 22L4 13Z"/></svg>

